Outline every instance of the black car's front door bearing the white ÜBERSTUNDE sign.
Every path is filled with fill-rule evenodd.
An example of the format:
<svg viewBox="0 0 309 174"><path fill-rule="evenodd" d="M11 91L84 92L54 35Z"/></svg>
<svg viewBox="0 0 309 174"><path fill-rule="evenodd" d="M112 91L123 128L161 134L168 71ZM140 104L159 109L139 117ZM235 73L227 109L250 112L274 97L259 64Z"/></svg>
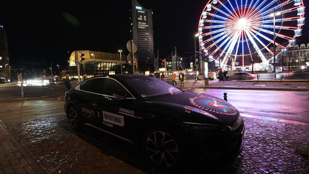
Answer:
<svg viewBox="0 0 309 174"><path fill-rule="evenodd" d="M119 82L112 78L102 78L100 85L101 96L96 98L97 101L97 117L95 117L96 125L102 131L112 134L125 141L131 142L130 134L139 117L134 116L136 112L136 100ZM128 98L120 99L114 96L115 92L121 91Z"/></svg>

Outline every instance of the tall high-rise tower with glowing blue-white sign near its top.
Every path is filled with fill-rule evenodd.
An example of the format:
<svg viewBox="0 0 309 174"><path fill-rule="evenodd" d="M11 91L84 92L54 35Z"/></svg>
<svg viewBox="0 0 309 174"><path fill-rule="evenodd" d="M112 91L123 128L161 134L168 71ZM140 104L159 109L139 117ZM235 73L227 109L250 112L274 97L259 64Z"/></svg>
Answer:
<svg viewBox="0 0 309 174"><path fill-rule="evenodd" d="M153 71L154 42L152 10L142 7L137 0L131 0L129 9L130 39L136 43L138 68Z"/></svg>

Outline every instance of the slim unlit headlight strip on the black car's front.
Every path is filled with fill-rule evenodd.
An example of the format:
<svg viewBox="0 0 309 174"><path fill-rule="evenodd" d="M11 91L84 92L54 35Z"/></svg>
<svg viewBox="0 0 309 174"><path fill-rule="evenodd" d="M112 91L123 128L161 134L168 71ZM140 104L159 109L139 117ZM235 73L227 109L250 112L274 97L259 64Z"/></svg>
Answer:
<svg viewBox="0 0 309 174"><path fill-rule="evenodd" d="M232 131L232 129L230 129L228 126L223 125L209 125L209 124L190 123L190 122L183 122L183 125L186 129L199 130L199 131L212 131L212 132Z"/></svg>

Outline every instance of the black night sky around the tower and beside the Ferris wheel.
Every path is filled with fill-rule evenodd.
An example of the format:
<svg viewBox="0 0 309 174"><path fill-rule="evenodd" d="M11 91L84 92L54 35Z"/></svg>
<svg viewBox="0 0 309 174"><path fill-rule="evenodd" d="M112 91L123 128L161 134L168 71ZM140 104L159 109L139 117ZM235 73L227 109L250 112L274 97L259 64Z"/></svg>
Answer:
<svg viewBox="0 0 309 174"><path fill-rule="evenodd" d="M194 54L194 35L208 1L138 2L153 11L155 53L159 49L160 58L170 57L175 46L182 57ZM0 11L11 65L42 61L60 63L64 68L74 50L118 53L121 48L128 54L129 0L3 0ZM303 34L308 33L308 26L305 28Z"/></svg>

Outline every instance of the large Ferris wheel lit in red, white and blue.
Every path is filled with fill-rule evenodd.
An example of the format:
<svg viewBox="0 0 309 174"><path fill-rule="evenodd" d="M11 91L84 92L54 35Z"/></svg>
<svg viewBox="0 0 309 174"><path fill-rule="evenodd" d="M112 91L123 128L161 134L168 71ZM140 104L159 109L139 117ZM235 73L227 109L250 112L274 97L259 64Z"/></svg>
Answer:
<svg viewBox="0 0 309 174"><path fill-rule="evenodd" d="M228 60L233 69L246 68L245 59L253 54L260 57L260 67L268 68L302 35L304 10L303 0L210 0L199 20L201 50L215 66L221 60L223 69ZM273 43L280 49L270 49ZM235 65L236 60L241 63Z"/></svg>

